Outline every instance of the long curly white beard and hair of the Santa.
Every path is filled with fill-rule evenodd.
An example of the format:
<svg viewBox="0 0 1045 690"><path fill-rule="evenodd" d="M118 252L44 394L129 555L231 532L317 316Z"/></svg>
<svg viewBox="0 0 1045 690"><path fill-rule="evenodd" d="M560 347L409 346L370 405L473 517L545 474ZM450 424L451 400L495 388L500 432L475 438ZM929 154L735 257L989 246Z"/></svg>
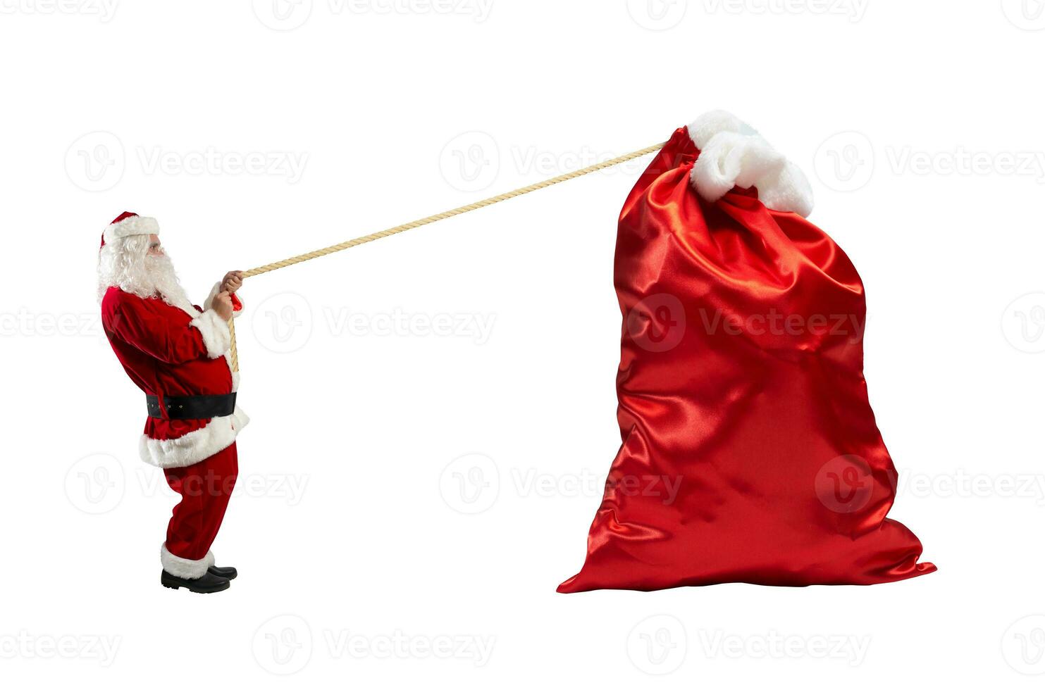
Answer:
<svg viewBox="0 0 1045 690"><path fill-rule="evenodd" d="M198 313L166 254L148 254L148 237L133 236L107 243L98 256L98 300L110 287L148 299L160 296L172 307Z"/></svg>

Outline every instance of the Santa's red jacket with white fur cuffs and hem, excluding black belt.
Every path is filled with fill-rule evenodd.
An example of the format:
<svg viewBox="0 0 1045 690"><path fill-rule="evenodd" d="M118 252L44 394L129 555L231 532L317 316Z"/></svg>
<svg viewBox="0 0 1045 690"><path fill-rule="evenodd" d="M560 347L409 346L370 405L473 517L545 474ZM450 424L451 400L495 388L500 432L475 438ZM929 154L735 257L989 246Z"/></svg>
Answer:
<svg viewBox="0 0 1045 690"><path fill-rule="evenodd" d="M171 306L159 295L143 299L118 287L106 291L106 335L131 380L146 395L224 395L236 389L229 326L209 309L215 293L201 310L190 304ZM235 307L240 307L238 302ZM211 420L149 417L139 444L141 459L160 468L194 465L231 446L248 421L238 406L232 414Z"/></svg>

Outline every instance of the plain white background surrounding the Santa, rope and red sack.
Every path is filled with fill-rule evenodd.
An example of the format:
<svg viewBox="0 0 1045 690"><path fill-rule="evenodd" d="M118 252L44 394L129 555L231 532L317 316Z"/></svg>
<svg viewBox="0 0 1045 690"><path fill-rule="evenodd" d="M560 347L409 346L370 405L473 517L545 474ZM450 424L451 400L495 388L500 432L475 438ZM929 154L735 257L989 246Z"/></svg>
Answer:
<svg viewBox="0 0 1045 690"><path fill-rule="evenodd" d="M0 0L5 685L1040 687L1041 2L115 2ZM106 223L159 218L202 300L714 108L807 171L864 279L891 515L939 572L555 593L619 446L643 162L250 279L240 577L160 587L175 495L98 327Z"/></svg>

